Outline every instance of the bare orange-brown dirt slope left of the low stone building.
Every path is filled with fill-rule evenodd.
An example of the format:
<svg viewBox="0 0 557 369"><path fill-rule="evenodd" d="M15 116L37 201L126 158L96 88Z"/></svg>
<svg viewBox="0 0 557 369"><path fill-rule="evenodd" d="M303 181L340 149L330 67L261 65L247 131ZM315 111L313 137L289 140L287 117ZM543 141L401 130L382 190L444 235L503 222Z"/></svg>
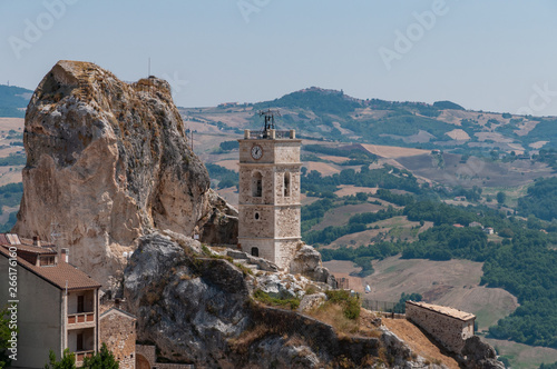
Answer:
<svg viewBox="0 0 557 369"><path fill-rule="evenodd" d="M383 325L400 339L408 343L413 352L423 357L430 362L442 362L450 369L458 369L458 362L450 356L441 352L423 332L405 319L382 319Z"/></svg>

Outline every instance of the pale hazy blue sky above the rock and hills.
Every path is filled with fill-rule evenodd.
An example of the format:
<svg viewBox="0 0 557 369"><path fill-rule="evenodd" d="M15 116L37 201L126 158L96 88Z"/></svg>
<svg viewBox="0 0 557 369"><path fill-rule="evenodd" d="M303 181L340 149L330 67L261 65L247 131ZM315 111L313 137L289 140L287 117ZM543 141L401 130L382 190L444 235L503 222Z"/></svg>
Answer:
<svg viewBox="0 0 557 369"><path fill-rule="evenodd" d="M557 2L1 0L0 83L60 59L169 80L176 104L317 86L358 98L557 114Z"/></svg>

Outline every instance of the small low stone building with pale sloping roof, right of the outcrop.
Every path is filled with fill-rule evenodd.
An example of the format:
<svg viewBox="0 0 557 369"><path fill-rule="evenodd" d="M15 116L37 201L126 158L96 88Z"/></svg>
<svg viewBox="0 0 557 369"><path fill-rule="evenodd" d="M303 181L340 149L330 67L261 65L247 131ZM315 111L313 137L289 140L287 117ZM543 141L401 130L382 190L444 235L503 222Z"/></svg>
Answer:
<svg viewBox="0 0 557 369"><path fill-rule="evenodd" d="M407 301L405 306L407 319L451 352L460 353L465 341L473 337L476 316L472 313L427 302Z"/></svg>

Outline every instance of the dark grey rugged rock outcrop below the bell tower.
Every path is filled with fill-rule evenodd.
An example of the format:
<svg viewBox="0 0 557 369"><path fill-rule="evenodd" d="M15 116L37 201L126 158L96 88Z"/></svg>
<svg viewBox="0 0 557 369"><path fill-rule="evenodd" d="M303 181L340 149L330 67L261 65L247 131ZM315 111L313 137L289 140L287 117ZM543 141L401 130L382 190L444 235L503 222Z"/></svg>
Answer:
<svg viewBox="0 0 557 369"><path fill-rule="evenodd" d="M281 285L276 296L292 290L286 297L303 297L304 283L311 281L280 271L250 273L235 260L242 259L174 232L141 237L124 276L138 340L155 343L163 360L199 368L424 367L388 331L379 338L338 335L297 311L260 305L253 292L271 288L268 280ZM309 300L316 299L324 295Z"/></svg>

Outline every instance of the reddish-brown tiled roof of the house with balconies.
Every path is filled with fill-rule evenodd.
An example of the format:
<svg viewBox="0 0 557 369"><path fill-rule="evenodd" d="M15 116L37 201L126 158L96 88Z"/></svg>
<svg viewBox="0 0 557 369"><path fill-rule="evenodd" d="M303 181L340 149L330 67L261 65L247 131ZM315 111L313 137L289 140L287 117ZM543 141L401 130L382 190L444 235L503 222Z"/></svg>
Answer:
<svg viewBox="0 0 557 369"><path fill-rule="evenodd" d="M10 256L9 251L3 247L0 247L0 255L3 255L6 258L9 258ZM66 289L66 282L68 283L68 290L92 289L101 286L81 270L63 261L58 262L56 266L36 267L20 257L17 259L19 266L26 268L59 289Z"/></svg>

